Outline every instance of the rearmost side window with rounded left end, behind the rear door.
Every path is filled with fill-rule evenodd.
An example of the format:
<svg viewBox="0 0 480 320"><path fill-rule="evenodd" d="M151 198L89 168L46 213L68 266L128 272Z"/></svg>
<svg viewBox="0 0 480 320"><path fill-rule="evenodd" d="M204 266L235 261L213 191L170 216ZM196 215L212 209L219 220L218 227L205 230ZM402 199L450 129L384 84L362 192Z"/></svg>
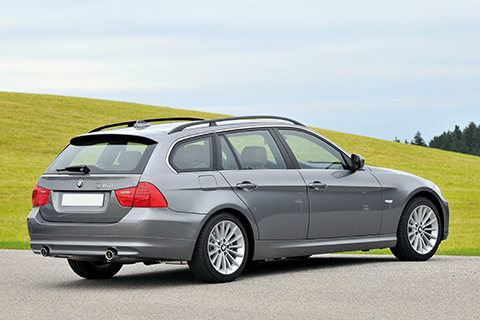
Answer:
<svg viewBox="0 0 480 320"><path fill-rule="evenodd" d="M170 156L171 165L179 172L212 170L210 137L179 143Z"/></svg>

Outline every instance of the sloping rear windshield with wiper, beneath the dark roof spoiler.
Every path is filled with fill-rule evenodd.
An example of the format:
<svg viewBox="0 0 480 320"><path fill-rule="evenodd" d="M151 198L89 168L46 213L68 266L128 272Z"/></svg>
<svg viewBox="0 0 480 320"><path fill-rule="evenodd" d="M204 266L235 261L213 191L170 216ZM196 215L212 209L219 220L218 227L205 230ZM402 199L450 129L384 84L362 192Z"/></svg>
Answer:
<svg viewBox="0 0 480 320"><path fill-rule="evenodd" d="M46 172L86 165L90 173L142 173L154 147L154 141L134 136L77 137Z"/></svg>

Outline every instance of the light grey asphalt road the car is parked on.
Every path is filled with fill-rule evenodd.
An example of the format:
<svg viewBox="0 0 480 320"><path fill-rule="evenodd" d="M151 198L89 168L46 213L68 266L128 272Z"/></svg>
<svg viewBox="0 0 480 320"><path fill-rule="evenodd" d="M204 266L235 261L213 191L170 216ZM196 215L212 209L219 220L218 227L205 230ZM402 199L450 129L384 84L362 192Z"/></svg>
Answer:
<svg viewBox="0 0 480 320"><path fill-rule="evenodd" d="M165 264L84 280L66 260L0 250L0 289L0 319L480 319L480 257L317 255L212 285Z"/></svg>

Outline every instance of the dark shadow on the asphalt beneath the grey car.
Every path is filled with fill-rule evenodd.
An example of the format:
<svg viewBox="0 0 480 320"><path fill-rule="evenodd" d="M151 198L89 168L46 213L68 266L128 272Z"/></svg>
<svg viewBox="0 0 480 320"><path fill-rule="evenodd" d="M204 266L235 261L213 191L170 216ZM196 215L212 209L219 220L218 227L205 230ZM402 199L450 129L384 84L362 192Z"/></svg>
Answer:
<svg viewBox="0 0 480 320"><path fill-rule="evenodd" d="M258 277L268 277L283 273L295 273L305 270L329 270L335 268L345 268L348 266L358 266L362 264L387 263L398 261L393 256L388 255L315 255L308 259L281 259L264 261L247 266L243 274L235 282L254 279ZM152 266L153 268L155 266ZM124 266L128 268L128 266ZM145 267L149 268L149 267ZM56 288L63 289L145 289L145 288L167 288L212 285L206 284L196 279L186 265L169 266L167 270L148 270L139 273L119 274L106 280L87 280L78 278L78 280L56 283Z"/></svg>

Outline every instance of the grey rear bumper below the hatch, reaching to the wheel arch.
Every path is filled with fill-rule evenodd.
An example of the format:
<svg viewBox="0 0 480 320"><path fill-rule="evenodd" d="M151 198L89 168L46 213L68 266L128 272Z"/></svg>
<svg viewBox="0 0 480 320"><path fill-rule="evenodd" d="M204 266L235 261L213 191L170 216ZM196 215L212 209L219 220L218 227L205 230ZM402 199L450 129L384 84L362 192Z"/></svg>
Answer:
<svg viewBox="0 0 480 320"><path fill-rule="evenodd" d="M190 261L199 230L207 216L174 212L168 208L133 208L117 223L59 223L42 218L34 207L27 218L30 247L40 254L77 260L104 259L108 249L112 261Z"/></svg>

